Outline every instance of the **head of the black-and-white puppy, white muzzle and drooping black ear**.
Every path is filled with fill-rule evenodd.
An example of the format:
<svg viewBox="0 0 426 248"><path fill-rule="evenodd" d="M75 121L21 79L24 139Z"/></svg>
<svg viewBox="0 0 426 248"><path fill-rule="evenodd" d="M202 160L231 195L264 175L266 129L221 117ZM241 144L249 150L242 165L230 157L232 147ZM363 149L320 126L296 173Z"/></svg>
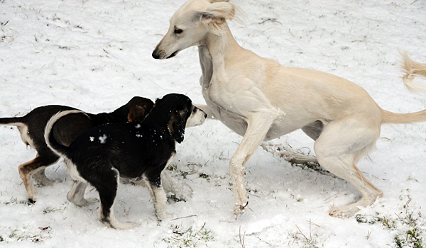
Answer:
<svg viewBox="0 0 426 248"><path fill-rule="evenodd" d="M149 116L156 119L168 118L165 120L168 121L168 129L178 143L183 141L185 128L201 125L207 118L204 111L192 105L191 99L182 94L168 94L158 98Z"/></svg>

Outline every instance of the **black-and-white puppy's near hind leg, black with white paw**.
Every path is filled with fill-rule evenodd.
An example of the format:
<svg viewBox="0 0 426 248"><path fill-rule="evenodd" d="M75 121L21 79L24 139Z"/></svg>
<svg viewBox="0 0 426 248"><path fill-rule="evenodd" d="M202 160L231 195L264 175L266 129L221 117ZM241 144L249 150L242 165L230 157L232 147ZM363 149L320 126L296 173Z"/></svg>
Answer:
<svg viewBox="0 0 426 248"><path fill-rule="evenodd" d="M133 222L120 222L114 215L114 203L119 189L119 171L115 168L111 168L107 173L99 174L98 176L100 176L102 180L90 181L90 184L97 189L101 201L98 220L104 225L107 225L107 227L113 227L115 229L137 227L138 224Z"/></svg>

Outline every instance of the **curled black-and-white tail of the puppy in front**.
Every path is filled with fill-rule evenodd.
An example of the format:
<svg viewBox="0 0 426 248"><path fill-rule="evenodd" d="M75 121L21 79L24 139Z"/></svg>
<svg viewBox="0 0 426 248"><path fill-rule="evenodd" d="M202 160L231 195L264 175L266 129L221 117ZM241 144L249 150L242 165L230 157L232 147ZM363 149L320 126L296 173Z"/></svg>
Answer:
<svg viewBox="0 0 426 248"><path fill-rule="evenodd" d="M82 113L84 115L87 115L87 113L84 113L83 111L79 111L79 110L71 110L71 111L60 111L58 113L56 113L55 115L52 116L52 118L50 118L50 120L48 121L48 124L46 124L45 127L45 141L46 144L48 145L48 147L55 152L56 154L58 154L58 156L60 157L65 157L67 159L69 159L67 157L67 152L70 150L69 147L66 147L65 145L62 145L60 143L58 143L58 141L56 141L54 135L53 135L53 126L55 125L55 123L62 117L64 117L65 115L70 115L72 113ZM88 116L88 115L87 115Z"/></svg>

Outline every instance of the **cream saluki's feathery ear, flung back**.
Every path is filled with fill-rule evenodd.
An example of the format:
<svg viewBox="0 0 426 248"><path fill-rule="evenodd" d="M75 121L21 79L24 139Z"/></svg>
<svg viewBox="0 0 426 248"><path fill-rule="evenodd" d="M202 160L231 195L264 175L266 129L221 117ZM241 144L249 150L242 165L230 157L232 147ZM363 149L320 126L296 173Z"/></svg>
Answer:
<svg viewBox="0 0 426 248"><path fill-rule="evenodd" d="M207 10L201 13L201 21L210 33L221 35L226 20L231 21L235 16L234 4L227 1L209 4Z"/></svg>

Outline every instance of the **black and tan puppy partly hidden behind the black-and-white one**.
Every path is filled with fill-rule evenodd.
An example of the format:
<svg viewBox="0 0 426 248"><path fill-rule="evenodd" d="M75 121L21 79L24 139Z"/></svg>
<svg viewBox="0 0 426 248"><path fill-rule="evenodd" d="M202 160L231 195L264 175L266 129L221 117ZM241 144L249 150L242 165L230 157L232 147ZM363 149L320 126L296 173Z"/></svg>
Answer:
<svg viewBox="0 0 426 248"><path fill-rule="evenodd" d="M76 137L87 130L106 123L126 123L133 120L143 120L153 108L153 101L148 98L135 96L129 103L121 106L112 113L87 113L89 118L83 115L67 116L62 118L55 125L52 133L60 144L68 146ZM60 111L75 110L68 106L41 106L23 117L0 118L0 125L15 125L21 133L22 141L37 151L35 159L21 164L18 167L19 175L23 181L23 185L28 192L28 200L33 203L37 191L33 184L33 177L42 185L50 185L50 181L45 176L44 169L51 164L58 162L60 158L52 152L46 145L43 137L45 126L48 120Z"/></svg>

